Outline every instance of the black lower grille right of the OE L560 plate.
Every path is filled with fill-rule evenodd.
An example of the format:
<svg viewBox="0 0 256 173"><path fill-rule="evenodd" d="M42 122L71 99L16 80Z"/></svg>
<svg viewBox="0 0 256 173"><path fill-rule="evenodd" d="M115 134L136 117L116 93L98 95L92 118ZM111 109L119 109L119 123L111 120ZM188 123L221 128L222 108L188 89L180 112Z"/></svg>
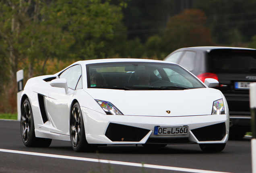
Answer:
<svg viewBox="0 0 256 173"><path fill-rule="evenodd" d="M221 141L226 135L225 123L191 130L198 141Z"/></svg>

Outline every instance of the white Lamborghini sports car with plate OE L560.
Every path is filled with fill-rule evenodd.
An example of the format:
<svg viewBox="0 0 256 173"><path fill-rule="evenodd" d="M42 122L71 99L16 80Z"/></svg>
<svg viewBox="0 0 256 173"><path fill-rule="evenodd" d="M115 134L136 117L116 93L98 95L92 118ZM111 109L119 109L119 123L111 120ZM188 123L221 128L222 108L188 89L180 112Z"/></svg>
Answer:
<svg viewBox="0 0 256 173"><path fill-rule="evenodd" d="M222 151L229 109L223 94L209 88L217 84L166 61L78 61L27 81L22 140L26 147L71 141L77 152L108 144L199 144L202 151Z"/></svg>

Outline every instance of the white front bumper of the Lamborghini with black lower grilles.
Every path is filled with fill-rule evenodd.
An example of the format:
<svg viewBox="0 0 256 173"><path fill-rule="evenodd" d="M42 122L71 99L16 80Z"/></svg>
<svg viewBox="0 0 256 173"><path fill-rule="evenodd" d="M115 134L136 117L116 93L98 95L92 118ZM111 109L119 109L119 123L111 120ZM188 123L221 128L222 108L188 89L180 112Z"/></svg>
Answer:
<svg viewBox="0 0 256 173"><path fill-rule="evenodd" d="M83 110L86 139L90 144L226 143L228 140L229 113L225 115L154 117L104 115L84 107L81 109ZM154 135L153 133L155 126L183 125L188 125L188 134L186 135Z"/></svg>

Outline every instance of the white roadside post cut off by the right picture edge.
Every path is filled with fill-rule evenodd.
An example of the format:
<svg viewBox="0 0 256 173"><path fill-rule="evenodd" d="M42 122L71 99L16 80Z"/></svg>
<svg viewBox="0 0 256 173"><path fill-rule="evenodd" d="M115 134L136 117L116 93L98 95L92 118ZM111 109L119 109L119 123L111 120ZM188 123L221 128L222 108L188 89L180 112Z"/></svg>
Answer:
<svg viewBox="0 0 256 173"><path fill-rule="evenodd" d="M251 130L252 130L252 173L256 173L256 83L250 84L250 108L251 108Z"/></svg>

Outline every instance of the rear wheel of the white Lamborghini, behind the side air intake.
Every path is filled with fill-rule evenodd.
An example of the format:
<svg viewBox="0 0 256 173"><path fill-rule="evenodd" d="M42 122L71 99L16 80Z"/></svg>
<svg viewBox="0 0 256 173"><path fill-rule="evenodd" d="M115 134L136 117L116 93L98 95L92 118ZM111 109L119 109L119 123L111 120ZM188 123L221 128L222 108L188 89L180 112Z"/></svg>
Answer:
<svg viewBox="0 0 256 173"><path fill-rule="evenodd" d="M33 112L29 99L21 107L21 137L26 147L49 147L52 139L35 137Z"/></svg>

